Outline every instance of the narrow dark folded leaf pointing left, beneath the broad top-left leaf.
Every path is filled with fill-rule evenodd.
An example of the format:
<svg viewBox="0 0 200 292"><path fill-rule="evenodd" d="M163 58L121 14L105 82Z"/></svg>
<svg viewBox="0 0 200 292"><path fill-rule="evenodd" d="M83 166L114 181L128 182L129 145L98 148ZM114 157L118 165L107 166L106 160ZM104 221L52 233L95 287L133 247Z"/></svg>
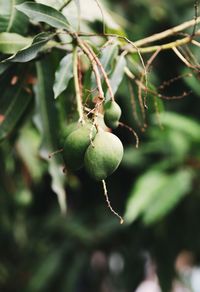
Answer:
<svg viewBox="0 0 200 292"><path fill-rule="evenodd" d="M30 46L18 51L16 54L11 57L1 61L1 63L5 62L29 62L35 57L37 57L40 50L44 47L44 45L53 37L54 34L42 32L35 36L33 42Z"/></svg>

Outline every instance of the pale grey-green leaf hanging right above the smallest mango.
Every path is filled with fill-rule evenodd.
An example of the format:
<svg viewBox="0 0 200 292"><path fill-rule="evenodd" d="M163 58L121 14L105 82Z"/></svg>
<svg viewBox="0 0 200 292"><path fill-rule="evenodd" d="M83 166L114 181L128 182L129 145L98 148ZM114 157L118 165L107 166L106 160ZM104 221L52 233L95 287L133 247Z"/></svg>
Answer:
<svg viewBox="0 0 200 292"><path fill-rule="evenodd" d="M124 76L124 68L126 67L126 58L122 54L120 55L116 60L116 66L112 73L112 76L110 78L110 84L113 90L113 93L115 94L122 79ZM109 92L107 91L106 98L109 98Z"/></svg>

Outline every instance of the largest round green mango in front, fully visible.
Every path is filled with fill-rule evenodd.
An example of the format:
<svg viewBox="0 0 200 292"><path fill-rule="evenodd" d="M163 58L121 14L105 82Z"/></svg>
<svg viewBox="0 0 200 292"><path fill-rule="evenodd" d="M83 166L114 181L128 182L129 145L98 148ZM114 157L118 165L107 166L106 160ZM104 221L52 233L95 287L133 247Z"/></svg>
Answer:
<svg viewBox="0 0 200 292"><path fill-rule="evenodd" d="M94 180L104 180L117 169L123 153L122 142L116 135L99 131L85 152L85 169Z"/></svg>

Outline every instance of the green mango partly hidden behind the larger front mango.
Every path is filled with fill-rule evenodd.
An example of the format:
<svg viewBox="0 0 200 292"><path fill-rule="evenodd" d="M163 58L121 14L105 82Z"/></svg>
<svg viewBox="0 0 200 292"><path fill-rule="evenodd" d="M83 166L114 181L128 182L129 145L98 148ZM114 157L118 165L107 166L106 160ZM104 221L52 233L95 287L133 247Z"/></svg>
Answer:
<svg viewBox="0 0 200 292"><path fill-rule="evenodd" d="M69 134L63 147L63 159L67 168L78 170L83 167L85 151L90 145L90 133L92 125L84 124ZM92 129L92 138L96 134L96 128Z"/></svg>

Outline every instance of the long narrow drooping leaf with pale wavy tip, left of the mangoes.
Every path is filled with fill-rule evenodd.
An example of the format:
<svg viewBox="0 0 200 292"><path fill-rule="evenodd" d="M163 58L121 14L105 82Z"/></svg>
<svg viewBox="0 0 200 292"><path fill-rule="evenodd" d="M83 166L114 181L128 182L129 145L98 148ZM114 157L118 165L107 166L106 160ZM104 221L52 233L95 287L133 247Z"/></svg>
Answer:
<svg viewBox="0 0 200 292"><path fill-rule="evenodd" d="M42 136L40 155L49 162L49 173L52 177L51 187L58 196L62 213L65 213L65 176L62 171L62 162L60 156L55 155L51 159L48 158L49 153L58 149L60 129L52 89L53 69L51 63L51 60L46 58L37 62L36 65L38 83L35 86L37 103L35 123Z"/></svg>

